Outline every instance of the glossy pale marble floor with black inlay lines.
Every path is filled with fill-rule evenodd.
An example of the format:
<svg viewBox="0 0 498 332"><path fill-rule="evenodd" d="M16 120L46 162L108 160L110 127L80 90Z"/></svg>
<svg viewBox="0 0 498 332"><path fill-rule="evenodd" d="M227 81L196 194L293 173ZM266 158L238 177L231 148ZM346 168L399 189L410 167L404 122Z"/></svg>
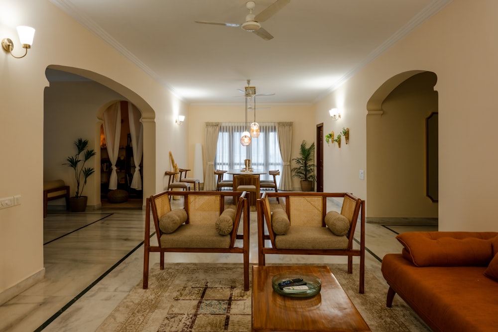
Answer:
<svg viewBox="0 0 498 332"><path fill-rule="evenodd" d="M173 201L174 204L181 204ZM330 210L340 210L329 202ZM0 306L0 331L95 331L142 278L145 212L103 208L86 213L49 212L44 223L45 279ZM437 226L366 225L366 264L383 281L380 259L401 252L397 233ZM257 262L256 225L250 224L250 262ZM152 237L153 243L155 237ZM313 263L346 263L312 256ZM240 262L237 254L174 253L168 262ZM357 262L358 258L355 258ZM150 265L159 255L150 255ZM310 262L310 256L268 255L267 263Z"/></svg>

